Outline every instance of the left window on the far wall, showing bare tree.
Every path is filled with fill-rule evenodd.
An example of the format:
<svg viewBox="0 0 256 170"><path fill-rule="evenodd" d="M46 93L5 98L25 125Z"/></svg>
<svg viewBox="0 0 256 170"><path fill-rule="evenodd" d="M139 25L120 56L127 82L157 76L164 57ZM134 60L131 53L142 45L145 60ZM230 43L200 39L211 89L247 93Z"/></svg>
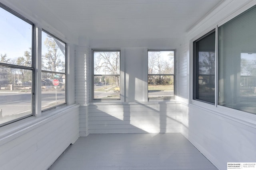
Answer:
<svg viewBox="0 0 256 170"><path fill-rule="evenodd" d="M120 51L93 51L93 99L120 99Z"/></svg>

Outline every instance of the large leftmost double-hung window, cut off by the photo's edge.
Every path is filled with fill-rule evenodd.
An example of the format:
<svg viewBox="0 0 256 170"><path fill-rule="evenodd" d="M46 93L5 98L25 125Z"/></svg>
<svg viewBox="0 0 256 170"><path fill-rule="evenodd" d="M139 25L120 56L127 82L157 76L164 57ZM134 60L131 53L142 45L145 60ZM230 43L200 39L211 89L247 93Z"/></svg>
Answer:
<svg viewBox="0 0 256 170"><path fill-rule="evenodd" d="M32 115L34 25L0 4L0 126Z"/></svg>

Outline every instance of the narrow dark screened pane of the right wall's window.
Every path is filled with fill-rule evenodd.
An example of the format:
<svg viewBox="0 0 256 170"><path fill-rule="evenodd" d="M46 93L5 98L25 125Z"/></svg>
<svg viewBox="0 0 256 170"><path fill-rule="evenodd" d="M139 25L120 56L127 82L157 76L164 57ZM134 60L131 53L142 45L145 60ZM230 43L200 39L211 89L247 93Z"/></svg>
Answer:
<svg viewBox="0 0 256 170"><path fill-rule="evenodd" d="M215 104L215 31L194 41L193 99Z"/></svg>

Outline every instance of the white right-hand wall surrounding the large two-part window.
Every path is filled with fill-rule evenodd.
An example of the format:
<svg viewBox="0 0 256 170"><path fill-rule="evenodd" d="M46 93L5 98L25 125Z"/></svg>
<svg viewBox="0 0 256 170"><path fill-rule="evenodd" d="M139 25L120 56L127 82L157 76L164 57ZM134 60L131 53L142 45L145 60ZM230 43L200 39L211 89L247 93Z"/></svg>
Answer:
<svg viewBox="0 0 256 170"><path fill-rule="evenodd" d="M220 170L227 168L227 162L255 162L256 115L192 100L192 41L255 4L255 0L224 1L188 31L178 56L178 72L187 74L177 82L187 83L177 93L187 100L182 103L181 132Z"/></svg>

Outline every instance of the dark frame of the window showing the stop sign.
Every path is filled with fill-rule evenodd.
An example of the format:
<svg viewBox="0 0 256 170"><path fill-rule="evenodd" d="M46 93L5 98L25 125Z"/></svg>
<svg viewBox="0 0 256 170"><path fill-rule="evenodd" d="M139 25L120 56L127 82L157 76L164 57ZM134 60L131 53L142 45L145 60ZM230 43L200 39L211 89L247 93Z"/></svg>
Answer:
<svg viewBox="0 0 256 170"><path fill-rule="evenodd" d="M54 73L54 74L64 74L65 75L65 102L62 103L62 104L58 104L58 105L52 106L52 107L48 107L46 109L42 109L41 108L41 111L44 112L44 111L47 111L47 110L50 110L50 109L53 109L53 108L56 108L56 107L59 107L59 106L67 105L67 82L68 82L67 81L67 79L68 79L67 78L67 63L68 63L68 60L67 60L67 58L68 58L67 57L67 49L68 48L67 48L67 43L65 43L65 41L62 41L62 39L56 37L55 35L53 35L49 31L46 31L45 29L42 29L40 32L41 32L41 37L42 37L42 32L44 32L44 33L52 36L52 38L57 39L58 41L60 41L60 42L65 44L65 72L56 72L56 71L43 70L42 69L42 54L41 54L41 61L40 61L41 62L41 74L40 74L41 76L42 76L42 73ZM41 41L42 41L42 39L41 39ZM41 45L40 48L41 48L41 51L42 51L42 45ZM41 84L41 87L42 87L42 84ZM40 89L40 90L42 90L42 89ZM42 95L41 95L40 99L41 99L40 102L41 102L41 105L42 105Z"/></svg>

